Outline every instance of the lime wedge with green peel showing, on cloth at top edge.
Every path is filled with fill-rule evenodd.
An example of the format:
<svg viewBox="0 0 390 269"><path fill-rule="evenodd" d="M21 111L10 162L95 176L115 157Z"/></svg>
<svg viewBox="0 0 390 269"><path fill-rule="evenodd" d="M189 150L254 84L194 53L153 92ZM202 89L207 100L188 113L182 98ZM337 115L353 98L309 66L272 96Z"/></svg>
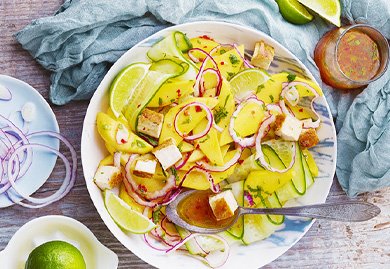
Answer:
<svg viewBox="0 0 390 269"><path fill-rule="evenodd" d="M286 21L294 24L305 24L313 20L307 9L297 0L276 0L279 5L280 14Z"/></svg>

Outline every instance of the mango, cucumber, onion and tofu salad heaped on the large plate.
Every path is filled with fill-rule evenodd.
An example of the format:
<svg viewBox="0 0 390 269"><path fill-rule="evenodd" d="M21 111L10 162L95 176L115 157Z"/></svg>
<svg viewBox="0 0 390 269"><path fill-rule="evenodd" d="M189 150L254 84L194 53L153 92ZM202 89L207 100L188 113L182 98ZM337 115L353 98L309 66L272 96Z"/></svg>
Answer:
<svg viewBox="0 0 390 269"><path fill-rule="evenodd" d="M175 226L165 206L188 189L211 193L209 203L188 207L194 218L205 207L215 212L216 197L272 208L303 196L318 175L309 149L319 143L314 103L322 91L292 73L269 74L274 48L263 40L249 54L244 45L174 31L147 57L117 74L109 108L97 114L108 154L94 182L122 230L155 250L221 266L230 245L269 237L284 216L245 215L206 235Z"/></svg>

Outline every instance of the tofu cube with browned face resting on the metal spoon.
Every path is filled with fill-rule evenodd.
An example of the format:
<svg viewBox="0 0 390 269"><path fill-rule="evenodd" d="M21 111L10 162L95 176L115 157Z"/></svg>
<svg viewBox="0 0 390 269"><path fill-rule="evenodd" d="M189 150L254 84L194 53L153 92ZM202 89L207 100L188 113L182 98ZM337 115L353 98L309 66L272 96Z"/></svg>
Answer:
<svg viewBox="0 0 390 269"><path fill-rule="evenodd" d="M237 201L231 190L210 196L209 204L217 220L233 217L234 212L238 208Z"/></svg>

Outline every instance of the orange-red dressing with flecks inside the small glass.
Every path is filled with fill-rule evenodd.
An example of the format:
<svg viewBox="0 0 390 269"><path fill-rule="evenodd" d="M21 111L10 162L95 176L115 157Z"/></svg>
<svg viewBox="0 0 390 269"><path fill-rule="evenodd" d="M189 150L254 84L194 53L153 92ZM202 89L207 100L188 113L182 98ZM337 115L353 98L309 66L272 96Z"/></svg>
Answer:
<svg viewBox="0 0 390 269"><path fill-rule="evenodd" d="M337 61L348 78L355 81L370 80L380 66L378 46L367 34L351 30L340 40Z"/></svg>

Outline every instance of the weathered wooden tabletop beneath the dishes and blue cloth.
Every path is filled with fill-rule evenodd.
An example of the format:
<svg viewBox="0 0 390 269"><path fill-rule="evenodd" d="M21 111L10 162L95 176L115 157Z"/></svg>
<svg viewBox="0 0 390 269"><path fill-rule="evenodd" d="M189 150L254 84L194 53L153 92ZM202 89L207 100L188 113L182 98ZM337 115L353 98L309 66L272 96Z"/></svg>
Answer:
<svg viewBox="0 0 390 269"><path fill-rule="evenodd" d="M59 0L0 0L0 74L29 83L46 100L50 73L21 48L13 34L34 19L52 15L61 3ZM84 223L100 242L117 253L119 268L151 268L115 239L89 198L80 160L80 137L87 106L88 101L62 107L51 105L62 134L73 143L79 156L75 187L64 199L45 208L0 209L0 250L29 220L52 214L65 215ZM49 189L50 186L42 192ZM343 199L347 197L335 180L328 201ZM265 268L390 268L390 188L361 199L377 204L382 214L357 224L317 221L302 240Z"/></svg>

